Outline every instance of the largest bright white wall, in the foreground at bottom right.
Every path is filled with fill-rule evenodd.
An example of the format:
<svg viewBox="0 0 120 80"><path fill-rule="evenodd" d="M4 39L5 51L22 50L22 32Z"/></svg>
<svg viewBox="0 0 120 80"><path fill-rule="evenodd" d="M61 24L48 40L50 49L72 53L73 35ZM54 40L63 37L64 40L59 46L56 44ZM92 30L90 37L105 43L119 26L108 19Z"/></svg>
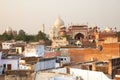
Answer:
<svg viewBox="0 0 120 80"><path fill-rule="evenodd" d="M70 74L80 78L80 80L112 80L103 72L89 71L76 68L70 68Z"/></svg>

